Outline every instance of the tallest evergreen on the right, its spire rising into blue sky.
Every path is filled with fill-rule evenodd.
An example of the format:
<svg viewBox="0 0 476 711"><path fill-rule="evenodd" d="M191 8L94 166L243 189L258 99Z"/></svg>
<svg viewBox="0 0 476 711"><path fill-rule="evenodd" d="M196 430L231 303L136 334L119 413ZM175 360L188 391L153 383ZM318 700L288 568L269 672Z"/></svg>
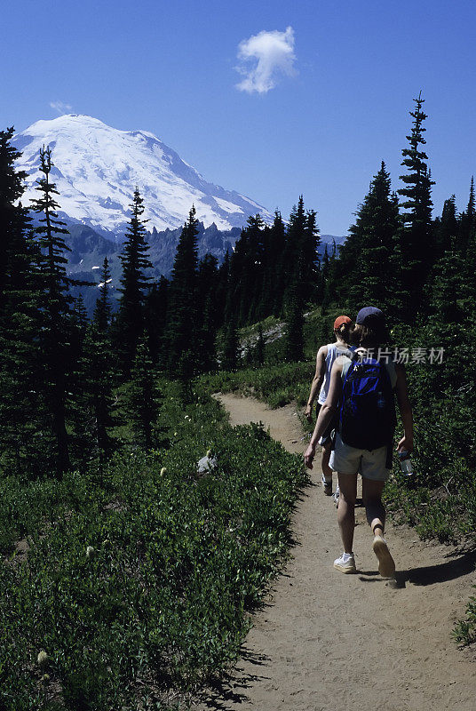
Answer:
<svg viewBox="0 0 476 711"><path fill-rule="evenodd" d="M413 117L411 134L407 136L409 148L402 150L402 165L408 172L401 175L405 188L398 190L404 200L401 214L402 227L400 232L401 264L400 280L403 288L409 293L406 311L409 318L414 318L419 303L422 288L429 270L432 267L433 235L432 235L432 185L431 173L426 161L428 156L421 149L424 140L424 120L427 117L423 111L424 99L421 92L414 100L416 108L410 111Z"/></svg>

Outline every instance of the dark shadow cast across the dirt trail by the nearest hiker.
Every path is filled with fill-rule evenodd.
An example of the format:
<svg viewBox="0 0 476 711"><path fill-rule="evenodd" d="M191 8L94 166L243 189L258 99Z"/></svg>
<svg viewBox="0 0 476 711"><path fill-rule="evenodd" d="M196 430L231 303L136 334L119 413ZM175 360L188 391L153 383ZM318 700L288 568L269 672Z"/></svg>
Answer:
<svg viewBox="0 0 476 711"><path fill-rule="evenodd" d="M422 568L411 568L408 571L396 571L396 585L393 587L406 587L407 583L412 583L412 585L421 585L424 587L428 585L436 585L437 583L444 583L448 582L448 580L461 578L464 575L469 575L474 571L476 571L476 551L465 551L459 555L459 557L454 557L446 563L426 565ZM383 579L377 577L377 571L360 572L361 576L359 577L364 582L384 582ZM363 576L370 577L367 578Z"/></svg>

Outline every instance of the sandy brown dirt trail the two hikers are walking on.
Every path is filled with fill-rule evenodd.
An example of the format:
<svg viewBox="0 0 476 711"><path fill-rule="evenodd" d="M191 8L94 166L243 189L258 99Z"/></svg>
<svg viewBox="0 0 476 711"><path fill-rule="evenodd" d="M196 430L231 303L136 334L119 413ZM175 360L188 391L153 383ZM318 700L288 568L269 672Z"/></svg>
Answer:
<svg viewBox="0 0 476 711"><path fill-rule="evenodd" d="M261 420L289 451L305 442L292 407L268 410L250 398L219 395L233 425ZM255 711L475 711L474 651L450 639L476 582L476 556L425 544L387 526L397 585L377 574L363 510L354 551L357 575L332 567L341 552L336 509L321 473L293 519L296 546L274 581L232 677L201 709Z"/></svg>

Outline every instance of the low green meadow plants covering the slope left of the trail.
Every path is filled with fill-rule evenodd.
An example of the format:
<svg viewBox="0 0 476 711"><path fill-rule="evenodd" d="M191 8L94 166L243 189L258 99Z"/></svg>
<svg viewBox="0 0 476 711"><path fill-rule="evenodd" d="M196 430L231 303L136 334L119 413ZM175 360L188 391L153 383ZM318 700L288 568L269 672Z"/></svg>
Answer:
<svg viewBox="0 0 476 711"><path fill-rule="evenodd" d="M168 450L124 446L62 482L2 480L5 711L172 708L236 659L304 473L262 427L232 429L194 400L164 396ZM198 475L208 449L218 466Z"/></svg>

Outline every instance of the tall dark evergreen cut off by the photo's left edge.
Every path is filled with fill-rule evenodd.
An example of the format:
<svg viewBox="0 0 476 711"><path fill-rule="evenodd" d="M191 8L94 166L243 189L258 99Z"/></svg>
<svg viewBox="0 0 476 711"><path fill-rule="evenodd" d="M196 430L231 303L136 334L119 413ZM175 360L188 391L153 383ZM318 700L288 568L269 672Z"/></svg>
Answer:
<svg viewBox="0 0 476 711"><path fill-rule="evenodd" d="M13 128L0 132L0 451L6 471L41 470L36 444L44 441L44 400L38 359L37 268L28 211L18 203L24 172L14 163Z"/></svg>

